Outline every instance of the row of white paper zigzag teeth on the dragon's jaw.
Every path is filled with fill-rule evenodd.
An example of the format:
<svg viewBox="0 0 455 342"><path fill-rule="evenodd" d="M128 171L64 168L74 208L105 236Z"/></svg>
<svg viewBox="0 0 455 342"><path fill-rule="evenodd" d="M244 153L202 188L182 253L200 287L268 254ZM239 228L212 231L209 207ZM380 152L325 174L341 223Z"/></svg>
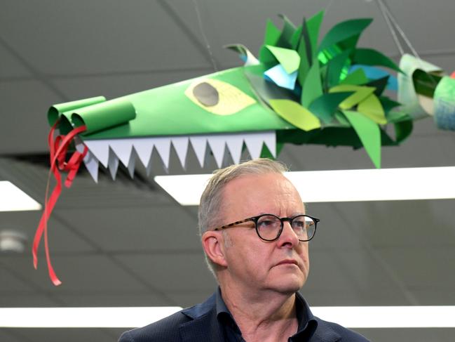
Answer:
<svg viewBox="0 0 455 342"><path fill-rule="evenodd" d="M213 134L210 136L86 140L84 143L89 151L83 161L95 182L97 182L99 163L107 167L112 179L115 179L118 164L121 162L128 168L128 172L133 178L137 158L147 169L147 175L149 175L151 171L151 154L154 148L161 157L164 168L167 170L169 168L171 143L183 168L186 164L186 155L190 143L201 167L204 166L205 156L209 152L208 145L218 167L226 164L226 161L229 160L229 154L234 163L239 163L243 144L247 147L252 158L257 158L261 155L264 144L269 148L273 157L276 157L275 131ZM83 145L80 144L79 148L83 148Z"/></svg>

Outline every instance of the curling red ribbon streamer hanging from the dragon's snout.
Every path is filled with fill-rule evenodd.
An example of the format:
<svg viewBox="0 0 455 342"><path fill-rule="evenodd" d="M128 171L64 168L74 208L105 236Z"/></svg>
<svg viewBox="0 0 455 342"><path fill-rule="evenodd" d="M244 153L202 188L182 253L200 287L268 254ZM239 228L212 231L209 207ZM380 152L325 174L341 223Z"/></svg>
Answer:
<svg viewBox="0 0 455 342"><path fill-rule="evenodd" d="M41 219L39 221L38 228L36 228L32 246L33 266L36 269L38 267L37 251L39 247L39 242L41 241L41 237L44 233L44 249L46 251L46 261L48 263L49 277L55 286L62 284L62 282L60 282L60 279L58 279L57 275L55 274L52 263L50 262L48 246L48 220L50 217L50 213L52 213L55 203L57 202L57 199L58 197L60 197L60 193L62 192L62 177L60 176L60 171L68 173L67 178L64 181L64 186L67 188L71 187L74 177L76 177L76 173L79 170L79 166L81 166L81 162L83 158L86 157L86 154L88 152L88 148L84 146L84 150L82 153L79 151L73 152L72 156L69 158L69 161L65 162L65 157L67 155L69 144L74 139L74 136L83 131L86 131L87 127L86 126L77 127L76 129L70 131L66 136L60 135L57 136L54 140L54 133L55 129L57 128L57 124L58 121L55 122L55 124L52 126L48 135L48 145L50 150L50 170L48 184L46 187L46 197L43 215L41 216ZM48 198L50 173L53 173L56 185L52 191L52 194Z"/></svg>

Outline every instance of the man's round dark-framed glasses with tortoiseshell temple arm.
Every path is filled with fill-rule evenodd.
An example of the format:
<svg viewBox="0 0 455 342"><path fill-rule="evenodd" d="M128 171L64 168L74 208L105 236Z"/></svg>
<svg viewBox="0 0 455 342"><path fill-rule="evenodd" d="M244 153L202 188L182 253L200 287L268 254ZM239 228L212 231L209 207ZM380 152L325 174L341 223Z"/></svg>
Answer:
<svg viewBox="0 0 455 342"><path fill-rule="evenodd" d="M316 226L318 225L320 219L308 215L280 218L271 213L263 213L259 216L253 216L245 218L245 220L229 223L229 225L222 225L221 227L214 228L213 230L223 230L231 228L235 225L240 225L240 223L254 222L254 228L256 229L257 236L264 241L273 241L280 237L281 232L283 232L285 221L290 223L292 230L294 230L295 234L299 238L299 241L305 242L313 239L316 232Z"/></svg>

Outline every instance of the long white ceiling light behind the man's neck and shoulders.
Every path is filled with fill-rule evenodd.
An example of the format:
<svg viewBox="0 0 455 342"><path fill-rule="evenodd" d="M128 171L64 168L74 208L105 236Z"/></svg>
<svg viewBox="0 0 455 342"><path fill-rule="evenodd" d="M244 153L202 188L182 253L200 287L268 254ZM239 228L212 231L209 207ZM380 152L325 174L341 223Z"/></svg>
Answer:
<svg viewBox="0 0 455 342"><path fill-rule="evenodd" d="M0 308L0 328L134 328L182 308ZM312 307L348 328L455 328L455 306Z"/></svg>

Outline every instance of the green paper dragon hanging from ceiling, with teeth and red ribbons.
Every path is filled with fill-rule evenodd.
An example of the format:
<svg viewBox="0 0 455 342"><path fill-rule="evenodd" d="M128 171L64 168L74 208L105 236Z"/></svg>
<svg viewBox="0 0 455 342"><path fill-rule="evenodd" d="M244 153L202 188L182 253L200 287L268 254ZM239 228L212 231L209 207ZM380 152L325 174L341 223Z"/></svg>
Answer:
<svg viewBox="0 0 455 342"><path fill-rule="evenodd" d="M244 148L253 158L276 157L283 144L294 143L365 147L379 168L381 146L405 140L414 119L434 114L438 127L455 129L455 79L408 55L398 67L379 51L359 48L372 19L340 22L319 39L323 16L321 11L295 26L281 15L282 29L269 20L259 58L241 44L226 46L240 55L242 67L114 100L101 96L51 107L49 145L57 187L46 199L36 232L35 266L60 194L59 170L71 170L69 186L82 159L97 181L100 164L112 178L120 163L132 177L138 161L149 172L153 150L167 169L171 145L184 167L189 145L201 166L208 149L222 166L228 154L239 162ZM398 81L392 72L398 72ZM384 93L397 88L402 107ZM395 127L394 137L388 125ZM55 129L61 135L54 139ZM76 152L65 162L72 142ZM46 257L51 278L59 284L47 247Z"/></svg>

